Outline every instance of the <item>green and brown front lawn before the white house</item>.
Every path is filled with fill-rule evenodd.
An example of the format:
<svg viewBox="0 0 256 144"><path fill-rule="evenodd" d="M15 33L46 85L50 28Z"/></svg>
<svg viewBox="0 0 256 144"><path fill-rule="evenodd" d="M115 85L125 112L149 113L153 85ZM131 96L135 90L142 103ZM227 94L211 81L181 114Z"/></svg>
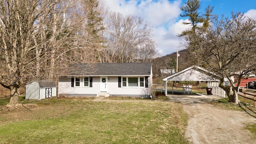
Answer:
<svg viewBox="0 0 256 144"><path fill-rule="evenodd" d="M187 116L180 105L171 102L21 98L20 103L38 106L30 110L0 111L0 144L188 143L184 138Z"/></svg>

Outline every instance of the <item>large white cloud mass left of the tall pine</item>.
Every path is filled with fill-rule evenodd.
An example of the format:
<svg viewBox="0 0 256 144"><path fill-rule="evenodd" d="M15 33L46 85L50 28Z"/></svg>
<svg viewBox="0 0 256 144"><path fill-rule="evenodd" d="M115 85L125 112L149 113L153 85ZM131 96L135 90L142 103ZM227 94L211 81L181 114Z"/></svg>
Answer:
<svg viewBox="0 0 256 144"><path fill-rule="evenodd" d="M176 52L179 44L178 33L184 30L181 22L176 22L180 15L182 0L106 0L106 5L114 12L124 15L140 16L153 26L157 50L161 55ZM180 26L179 26L180 25Z"/></svg>

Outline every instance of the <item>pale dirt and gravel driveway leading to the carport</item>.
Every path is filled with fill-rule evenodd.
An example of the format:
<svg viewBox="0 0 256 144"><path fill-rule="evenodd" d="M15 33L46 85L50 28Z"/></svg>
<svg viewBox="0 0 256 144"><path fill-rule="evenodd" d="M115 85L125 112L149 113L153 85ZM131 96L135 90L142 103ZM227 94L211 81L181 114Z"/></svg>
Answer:
<svg viewBox="0 0 256 144"><path fill-rule="evenodd" d="M224 110L207 102L220 99L217 96L168 96L182 104L188 114L186 138L192 144L252 144L247 124L256 123L256 113Z"/></svg>

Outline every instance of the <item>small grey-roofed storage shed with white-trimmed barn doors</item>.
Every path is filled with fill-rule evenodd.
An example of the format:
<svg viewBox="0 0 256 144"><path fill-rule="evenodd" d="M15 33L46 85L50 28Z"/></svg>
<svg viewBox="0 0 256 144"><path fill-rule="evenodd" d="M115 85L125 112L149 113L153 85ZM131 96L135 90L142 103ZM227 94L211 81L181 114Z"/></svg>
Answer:
<svg viewBox="0 0 256 144"><path fill-rule="evenodd" d="M26 85L25 99L41 100L57 96L57 84L53 80L38 80Z"/></svg>

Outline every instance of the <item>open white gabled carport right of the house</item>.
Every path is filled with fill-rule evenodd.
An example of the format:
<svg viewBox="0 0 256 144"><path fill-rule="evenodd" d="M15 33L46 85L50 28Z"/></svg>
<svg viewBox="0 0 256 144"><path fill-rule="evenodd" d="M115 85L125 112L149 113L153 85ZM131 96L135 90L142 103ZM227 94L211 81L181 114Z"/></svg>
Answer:
<svg viewBox="0 0 256 144"><path fill-rule="evenodd" d="M164 81L164 94L167 96L167 83L169 81L207 81L208 86L218 87L220 80L213 72L210 72L199 66L190 66L184 70L176 72L166 78ZM187 87L186 87L187 88ZM218 94L217 94L218 95Z"/></svg>

